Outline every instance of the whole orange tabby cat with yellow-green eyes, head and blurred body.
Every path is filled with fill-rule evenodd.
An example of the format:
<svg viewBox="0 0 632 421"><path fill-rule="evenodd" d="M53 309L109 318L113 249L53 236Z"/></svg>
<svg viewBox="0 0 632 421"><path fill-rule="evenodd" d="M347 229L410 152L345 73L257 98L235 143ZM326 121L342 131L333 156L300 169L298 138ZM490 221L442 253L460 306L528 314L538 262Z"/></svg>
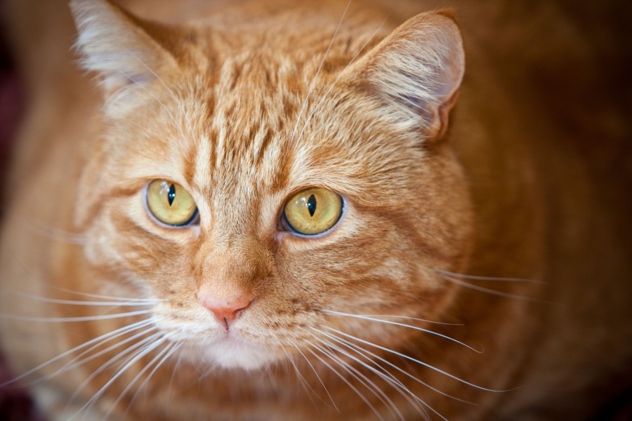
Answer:
<svg viewBox="0 0 632 421"><path fill-rule="evenodd" d="M579 420L631 378L626 201L466 6L72 0L79 61L39 6L1 343L51 420Z"/></svg>

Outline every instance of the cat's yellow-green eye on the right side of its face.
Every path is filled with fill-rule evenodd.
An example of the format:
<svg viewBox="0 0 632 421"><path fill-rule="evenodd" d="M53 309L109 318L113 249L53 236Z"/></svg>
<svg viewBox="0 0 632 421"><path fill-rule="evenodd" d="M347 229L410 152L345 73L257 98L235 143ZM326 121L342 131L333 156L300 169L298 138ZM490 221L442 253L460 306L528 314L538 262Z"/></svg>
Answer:
<svg viewBox="0 0 632 421"><path fill-rule="evenodd" d="M336 225L342 215L341 196L313 187L294 194L285 203L284 218L298 234L315 235Z"/></svg>

